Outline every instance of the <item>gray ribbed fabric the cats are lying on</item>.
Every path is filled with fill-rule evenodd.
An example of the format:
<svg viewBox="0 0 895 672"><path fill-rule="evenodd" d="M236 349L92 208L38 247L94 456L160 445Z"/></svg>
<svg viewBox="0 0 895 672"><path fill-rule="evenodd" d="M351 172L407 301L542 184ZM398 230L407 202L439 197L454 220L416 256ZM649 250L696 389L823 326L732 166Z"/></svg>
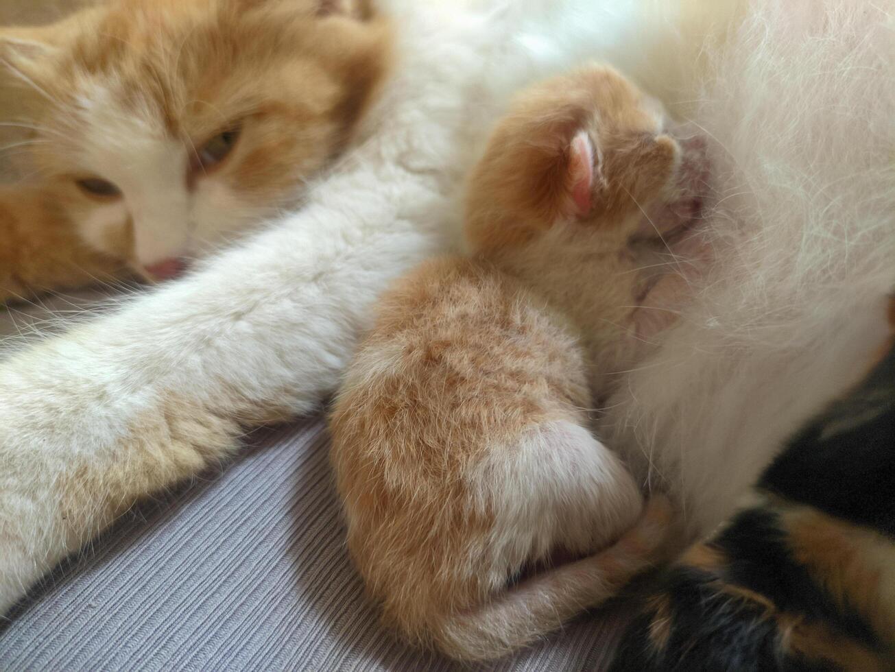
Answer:
<svg viewBox="0 0 895 672"><path fill-rule="evenodd" d="M0 625L0 669L464 669L380 629L344 540L323 421L255 432L60 567ZM487 669L599 669L617 635L580 621Z"/></svg>

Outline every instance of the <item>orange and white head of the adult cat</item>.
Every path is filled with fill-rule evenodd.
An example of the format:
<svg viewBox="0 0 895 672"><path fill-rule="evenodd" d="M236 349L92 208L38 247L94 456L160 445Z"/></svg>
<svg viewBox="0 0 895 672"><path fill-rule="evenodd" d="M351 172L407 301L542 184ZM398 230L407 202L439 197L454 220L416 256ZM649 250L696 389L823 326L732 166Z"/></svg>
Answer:
<svg viewBox="0 0 895 672"><path fill-rule="evenodd" d="M0 30L27 167L99 251L165 275L299 200L388 60L354 0L113 0Z"/></svg>

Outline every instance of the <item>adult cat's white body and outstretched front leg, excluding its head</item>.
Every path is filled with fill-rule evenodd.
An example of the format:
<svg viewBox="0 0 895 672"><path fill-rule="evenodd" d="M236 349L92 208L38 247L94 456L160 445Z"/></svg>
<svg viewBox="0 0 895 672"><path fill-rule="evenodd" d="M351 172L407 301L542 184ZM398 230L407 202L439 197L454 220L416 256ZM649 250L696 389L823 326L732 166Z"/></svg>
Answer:
<svg viewBox="0 0 895 672"><path fill-rule="evenodd" d="M226 455L241 423L319 404L379 290L448 244L459 175L505 94L582 56L694 116L729 186L706 224L733 261L693 287L680 327L606 419L631 455L652 453L644 476L653 464L686 484L695 527L726 515L777 439L882 340L868 305L895 283L891 3L712 4L718 33L742 12L704 87L696 54L717 45L703 49L711 21L683 0L390 4L395 73L300 213L0 366L0 612L141 494ZM699 472L680 463L689 455Z"/></svg>

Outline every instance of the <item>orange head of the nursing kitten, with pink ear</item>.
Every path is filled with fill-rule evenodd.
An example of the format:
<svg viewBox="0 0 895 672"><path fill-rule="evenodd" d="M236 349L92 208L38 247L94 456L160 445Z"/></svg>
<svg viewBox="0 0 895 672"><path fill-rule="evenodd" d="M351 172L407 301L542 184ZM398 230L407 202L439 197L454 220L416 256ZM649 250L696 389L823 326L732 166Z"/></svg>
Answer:
<svg viewBox="0 0 895 672"><path fill-rule="evenodd" d="M525 91L499 123L471 178L467 232L480 246L499 227L524 239L558 218L617 225L668 197L680 146L650 98L611 68L592 66ZM502 242L500 242L502 240Z"/></svg>

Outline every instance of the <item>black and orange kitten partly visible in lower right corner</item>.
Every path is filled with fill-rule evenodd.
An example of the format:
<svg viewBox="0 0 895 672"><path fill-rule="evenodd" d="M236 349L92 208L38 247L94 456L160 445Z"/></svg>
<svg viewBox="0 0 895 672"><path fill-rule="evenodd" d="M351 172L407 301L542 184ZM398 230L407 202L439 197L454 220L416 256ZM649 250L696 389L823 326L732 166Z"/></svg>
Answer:
<svg viewBox="0 0 895 672"><path fill-rule="evenodd" d="M893 450L890 346L788 442L757 503L661 572L613 669L895 669Z"/></svg>

